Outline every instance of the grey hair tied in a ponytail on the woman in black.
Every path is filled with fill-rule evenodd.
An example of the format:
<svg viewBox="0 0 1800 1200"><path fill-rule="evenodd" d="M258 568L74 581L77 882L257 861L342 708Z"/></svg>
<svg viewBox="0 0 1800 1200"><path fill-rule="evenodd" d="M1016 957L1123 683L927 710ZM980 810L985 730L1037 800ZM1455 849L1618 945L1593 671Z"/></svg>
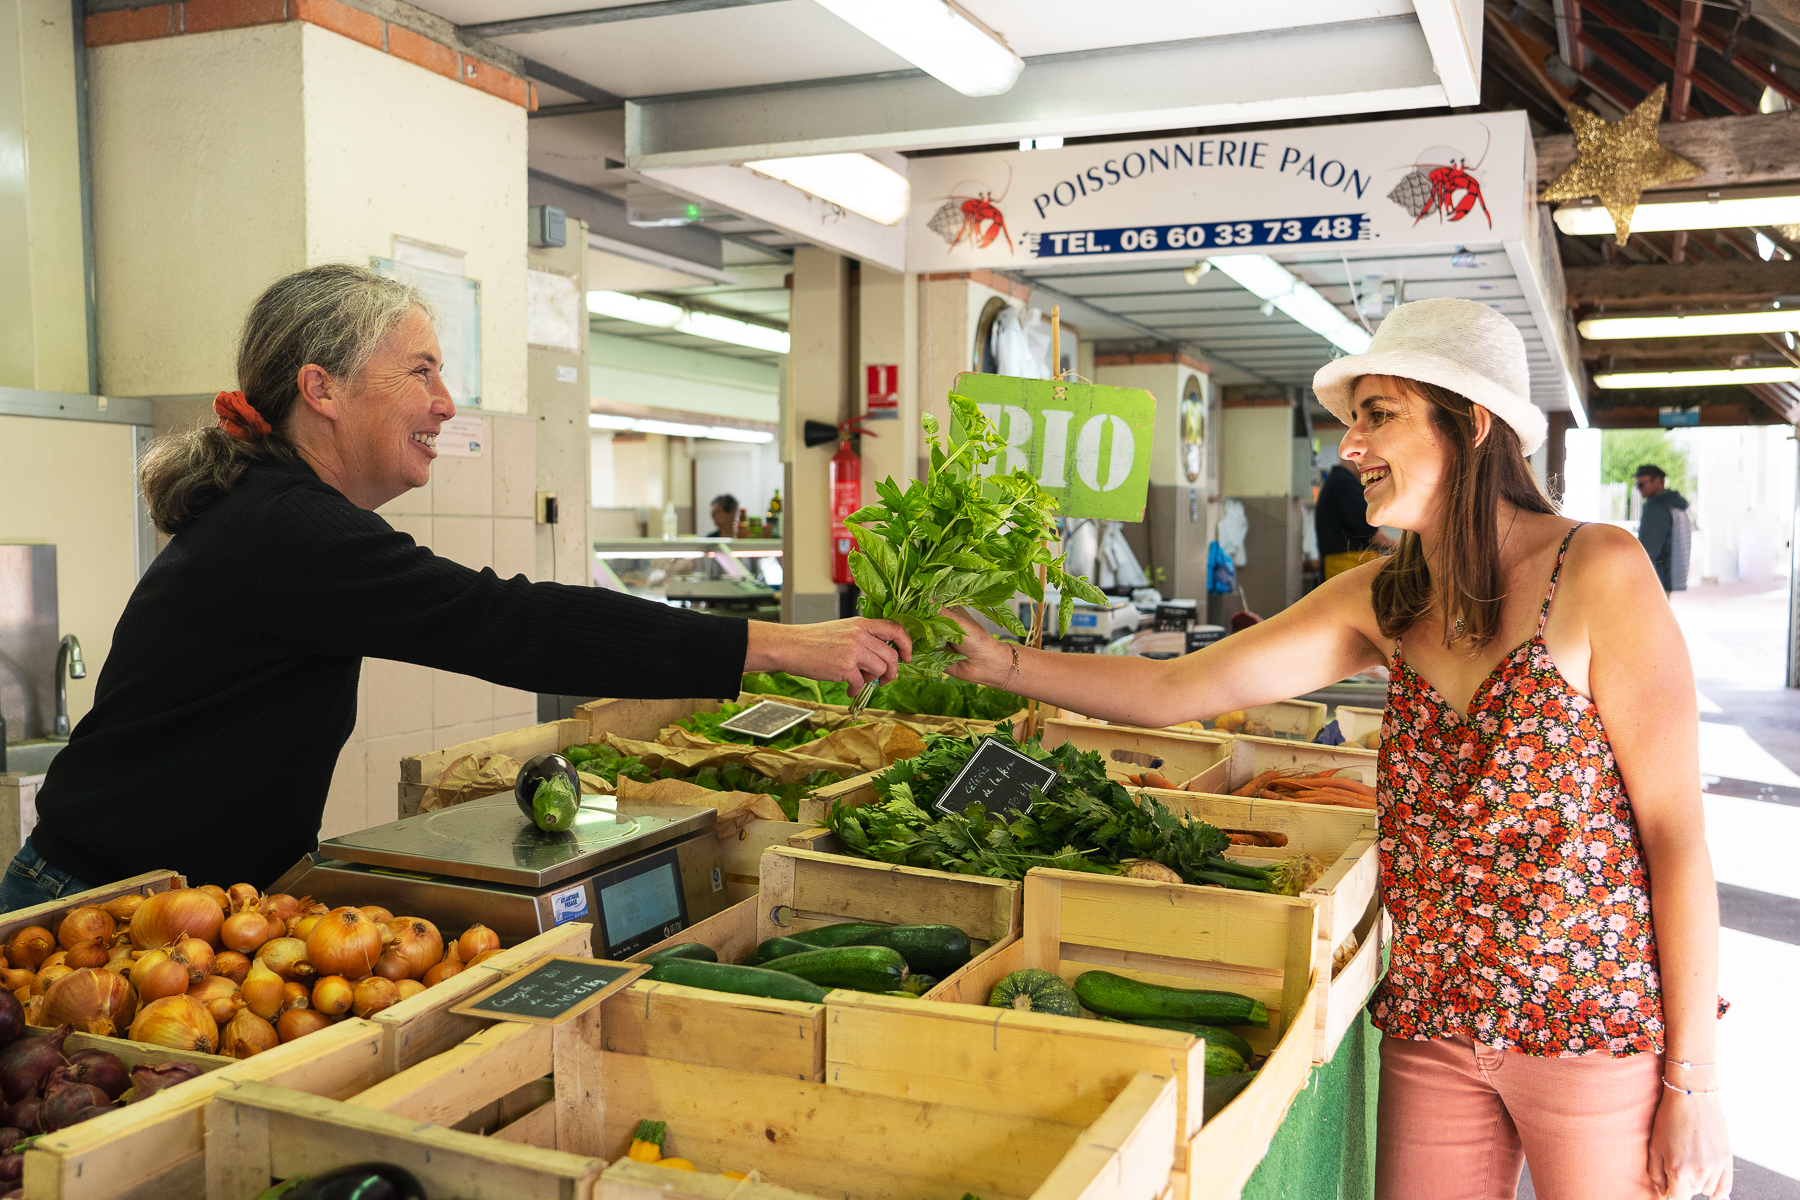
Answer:
<svg viewBox="0 0 1800 1200"><path fill-rule="evenodd" d="M257 462L293 461L288 417L301 398L301 367L355 378L414 309L430 315L416 288L349 263L310 266L270 284L238 336L238 390L270 432L243 441L207 426L151 443L139 479L157 529L175 536Z"/></svg>

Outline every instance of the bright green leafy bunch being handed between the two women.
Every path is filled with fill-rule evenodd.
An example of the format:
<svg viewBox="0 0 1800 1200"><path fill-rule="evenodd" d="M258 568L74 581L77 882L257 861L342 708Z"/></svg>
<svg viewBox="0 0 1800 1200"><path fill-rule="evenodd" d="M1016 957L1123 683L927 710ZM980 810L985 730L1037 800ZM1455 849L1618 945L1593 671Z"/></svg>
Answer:
<svg viewBox="0 0 1800 1200"><path fill-rule="evenodd" d="M850 574L862 588L862 615L905 626L913 662L900 669L925 678L941 676L961 658L945 649L963 640L963 628L943 615L952 604L967 604L1024 637L1008 601L1017 592L1044 599L1039 565L1064 596L1105 603L1093 583L1067 574L1062 556L1051 556L1046 545L1057 534L1057 500L1030 471L994 471L990 464L1006 443L976 401L950 392L950 412L956 425L949 448L938 439L938 421L925 416L927 477L907 482L905 491L884 479L875 484L880 502L844 522L857 538ZM1060 631L1067 633L1073 606L1060 610Z"/></svg>

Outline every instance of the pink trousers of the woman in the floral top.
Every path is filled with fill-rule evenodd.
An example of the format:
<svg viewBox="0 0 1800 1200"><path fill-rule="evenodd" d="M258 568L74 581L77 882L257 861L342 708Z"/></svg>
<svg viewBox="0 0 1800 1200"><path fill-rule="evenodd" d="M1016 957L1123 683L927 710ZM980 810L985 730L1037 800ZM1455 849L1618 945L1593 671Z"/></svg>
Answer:
<svg viewBox="0 0 1800 1200"><path fill-rule="evenodd" d="M1377 1200L1660 1200L1645 1166L1661 1054L1541 1058L1382 1038Z"/></svg>

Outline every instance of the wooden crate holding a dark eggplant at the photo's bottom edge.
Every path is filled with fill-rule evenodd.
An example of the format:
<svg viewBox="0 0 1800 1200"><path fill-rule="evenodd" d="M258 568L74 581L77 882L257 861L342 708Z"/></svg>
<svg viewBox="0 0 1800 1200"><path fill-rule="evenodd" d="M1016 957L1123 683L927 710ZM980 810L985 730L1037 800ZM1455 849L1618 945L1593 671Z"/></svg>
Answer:
<svg viewBox="0 0 1800 1200"><path fill-rule="evenodd" d="M216 1092L205 1119L207 1200L252 1200L272 1180L356 1162L401 1166L432 1196L590 1200L607 1166L594 1157L434 1128L266 1083L238 1083ZM202 1189L187 1195L202 1195Z"/></svg>

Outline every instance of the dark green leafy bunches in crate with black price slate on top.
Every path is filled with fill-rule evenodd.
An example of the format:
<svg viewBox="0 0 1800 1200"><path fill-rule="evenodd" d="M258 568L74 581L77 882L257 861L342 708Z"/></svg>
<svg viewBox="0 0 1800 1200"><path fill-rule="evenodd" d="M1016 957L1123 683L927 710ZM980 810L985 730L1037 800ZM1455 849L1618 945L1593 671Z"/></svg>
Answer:
<svg viewBox="0 0 1800 1200"><path fill-rule="evenodd" d="M1247 867L1224 856L1231 840L1213 826L1132 797L1107 779L1093 750L1055 750L1010 732L983 734L1057 768L1049 793L1033 788L1031 808L1012 820L990 819L981 804L940 815L931 808L976 752L981 738L940 734L918 757L877 775L875 804L833 804L824 824L853 855L878 862L1021 880L1031 867L1120 874L1132 858L1159 862L1188 883L1296 894L1300 874L1287 864Z"/></svg>

